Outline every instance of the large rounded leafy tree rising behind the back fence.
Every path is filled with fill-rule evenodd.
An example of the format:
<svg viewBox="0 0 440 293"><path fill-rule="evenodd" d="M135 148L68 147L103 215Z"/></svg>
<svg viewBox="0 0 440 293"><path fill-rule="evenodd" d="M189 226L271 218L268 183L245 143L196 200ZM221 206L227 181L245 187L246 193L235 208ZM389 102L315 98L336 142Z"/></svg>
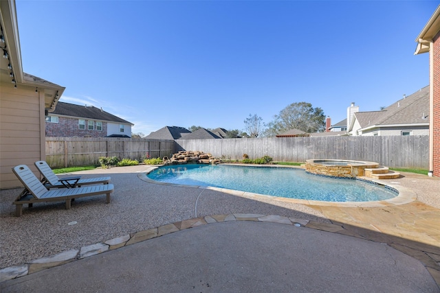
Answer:
<svg viewBox="0 0 440 293"><path fill-rule="evenodd" d="M274 116L274 121L267 124L265 134L274 136L288 130L298 129L304 132L320 132L325 129L325 114L321 108L313 108L310 103L290 104Z"/></svg>

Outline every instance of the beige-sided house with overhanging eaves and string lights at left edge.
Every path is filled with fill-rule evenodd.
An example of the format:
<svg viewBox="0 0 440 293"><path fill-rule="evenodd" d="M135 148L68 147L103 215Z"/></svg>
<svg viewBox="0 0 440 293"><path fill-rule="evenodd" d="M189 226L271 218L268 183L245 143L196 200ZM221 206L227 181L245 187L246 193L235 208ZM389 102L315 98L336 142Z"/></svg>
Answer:
<svg viewBox="0 0 440 293"><path fill-rule="evenodd" d="M28 165L40 176L34 162L46 159L45 114L55 109L65 88L23 72L15 1L0 1L0 26L5 56L0 58L0 188L5 189L22 186L12 173L16 165Z"/></svg>

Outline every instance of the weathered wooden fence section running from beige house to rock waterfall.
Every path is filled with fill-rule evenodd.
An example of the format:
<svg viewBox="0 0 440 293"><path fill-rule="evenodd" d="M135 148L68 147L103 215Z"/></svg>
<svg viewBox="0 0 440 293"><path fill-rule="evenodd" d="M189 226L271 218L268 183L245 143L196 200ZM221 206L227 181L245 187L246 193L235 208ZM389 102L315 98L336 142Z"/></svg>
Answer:
<svg viewBox="0 0 440 293"><path fill-rule="evenodd" d="M46 161L52 168L94 165L100 156L140 160L175 153L173 140L113 137L46 137Z"/></svg>

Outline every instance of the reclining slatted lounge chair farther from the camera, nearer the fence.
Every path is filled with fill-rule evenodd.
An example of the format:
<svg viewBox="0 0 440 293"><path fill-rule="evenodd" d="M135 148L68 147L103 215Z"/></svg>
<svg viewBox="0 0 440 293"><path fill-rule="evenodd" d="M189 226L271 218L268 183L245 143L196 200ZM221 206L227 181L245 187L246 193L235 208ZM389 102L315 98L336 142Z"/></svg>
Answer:
<svg viewBox="0 0 440 293"><path fill-rule="evenodd" d="M45 161L36 161L35 162L36 169L39 169L41 175L43 175L43 180L41 182L47 188L61 188L61 187L80 187L81 185L90 185L90 184L109 184L111 178L110 177L100 177L100 178L87 178L81 179L80 176L73 177L63 177L58 178L54 171L47 165Z"/></svg>

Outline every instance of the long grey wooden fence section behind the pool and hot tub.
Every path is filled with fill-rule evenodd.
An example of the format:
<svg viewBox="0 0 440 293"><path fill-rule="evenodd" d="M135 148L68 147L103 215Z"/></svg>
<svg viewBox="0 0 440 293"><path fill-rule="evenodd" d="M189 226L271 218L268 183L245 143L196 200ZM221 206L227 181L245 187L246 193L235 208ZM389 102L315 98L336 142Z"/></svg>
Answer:
<svg viewBox="0 0 440 293"><path fill-rule="evenodd" d="M271 156L274 161L307 159L373 161L388 167L428 169L428 136L265 137L261 139L179 139L177 150L201 150L223 159Z"/></svg>

